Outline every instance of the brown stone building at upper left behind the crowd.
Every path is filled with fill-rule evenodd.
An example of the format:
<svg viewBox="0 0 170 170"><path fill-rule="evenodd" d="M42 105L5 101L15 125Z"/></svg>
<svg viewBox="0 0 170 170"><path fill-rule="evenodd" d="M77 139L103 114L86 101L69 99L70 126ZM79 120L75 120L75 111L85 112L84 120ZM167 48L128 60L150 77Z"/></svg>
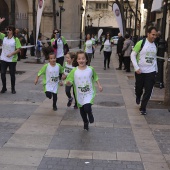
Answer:
<svg viewBox="0 0 170 170"><path fill-rule="evenodd" d="M35 0L35 7L37 9L38 0ZM56 25L59 28L60 13L58 0L56 3ZM15 26L17 28L28 28L29 32L33 30L33 0L0 0L0 17L5 17L6 21L2 24L2 28L5 28L9 23L12 23L12 19L15 20ZM62 35L67 40L78 40L80 38L80 26L81 26L81 12L80 8L85 8L86 0L69 0L64 2L61 19ZM50 38L54 29L54 15L53 15L53 0L45 0L42 20L41 20L41 33ZM82 15L84 16L84 14ZM83 23L84 21L82 21ZM84 30L84 29L82 29ZM69 42L69 45L77 46L79 41Z"/></svg>

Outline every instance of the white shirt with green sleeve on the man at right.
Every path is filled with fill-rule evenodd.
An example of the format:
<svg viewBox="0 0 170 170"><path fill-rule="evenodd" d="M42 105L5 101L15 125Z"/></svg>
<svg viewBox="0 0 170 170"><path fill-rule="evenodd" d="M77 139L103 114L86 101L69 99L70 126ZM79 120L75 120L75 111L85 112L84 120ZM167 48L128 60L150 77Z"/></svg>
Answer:
<svg viewBox="0 0 170 170"><path fill-rule="evenodd" d="M157 61L156 61L156 53L157 48L155 43L150 43L147 38L142 50L139 53L138 61L136 61L136 56L133 55L134 52L138 52L141 48L141 42L139 41L135 47L133 48L133 52L131 54L131 60L134 65L135 71L140 69L142 73L151 73L157 71Z"/></svg>

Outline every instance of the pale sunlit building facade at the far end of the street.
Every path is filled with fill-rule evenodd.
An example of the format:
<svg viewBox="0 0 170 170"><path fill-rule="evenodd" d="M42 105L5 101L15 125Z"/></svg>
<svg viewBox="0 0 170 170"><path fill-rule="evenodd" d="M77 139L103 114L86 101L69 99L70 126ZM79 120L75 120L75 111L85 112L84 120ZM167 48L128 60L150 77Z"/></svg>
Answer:
<svg viewBox="0 0 170 170"><path fill-rule="evenodd" d="M102 28L105 32L110 32L112 36L119 32L116 18L113 14L112 6L114 0L87 0L86 5L86 32L97 33ZM121 1L119 1L121 2ZM124 21L126 32L134 34L135 29L135 9L136 0L129 0L131 8L124 0ZM146 24L147 10L144 9L143 0L138 0L138 26L137 35L144 35L143 27ZM120 3L120 6L122 4ZM90 17L89 17L90 16Z"/></svg>

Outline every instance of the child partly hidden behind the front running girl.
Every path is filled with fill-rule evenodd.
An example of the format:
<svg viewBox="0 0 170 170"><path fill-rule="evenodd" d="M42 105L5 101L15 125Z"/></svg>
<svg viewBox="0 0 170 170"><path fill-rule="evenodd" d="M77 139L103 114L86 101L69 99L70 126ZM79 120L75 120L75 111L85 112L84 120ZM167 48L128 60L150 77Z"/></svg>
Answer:
<svg viewBox="0 0 170 170"><path fill-rule="evenodd" d="M64 63L64 73L62 75L62 79L65 80L68 76L68 74L71 72L71 70L74 68L72 66L72 62L75 58L75 53L71 53L71 52L68 52L66 54L66 62ZM72 104L72 101L73 101L73 97L71 96L71 87L72 86L65 86L65 92L66 92L66 95L68 97L68 103L67 103L67 107L70 107L71 104ZM74 90L73 90L73 95L74 95ZM75 98L75 95L74 95L74 98ZM76 102L76 99L75 99L75 105L74 105L74 109L77 109L77 102Z"/></svg>

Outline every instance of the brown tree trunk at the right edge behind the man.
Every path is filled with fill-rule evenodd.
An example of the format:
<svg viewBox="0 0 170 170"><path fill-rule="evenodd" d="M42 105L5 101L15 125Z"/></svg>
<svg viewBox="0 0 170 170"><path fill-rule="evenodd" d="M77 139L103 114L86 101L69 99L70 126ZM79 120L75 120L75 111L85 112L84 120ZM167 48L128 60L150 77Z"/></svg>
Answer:
<svg viewBox="0 0 170 170"><path fill-rule="evenodd" d="M170 28L170 23L169 23ZM168 36L168 58L170 58L170 30ZM164 104L170 106L170 61L166 65Z"/></svg>

